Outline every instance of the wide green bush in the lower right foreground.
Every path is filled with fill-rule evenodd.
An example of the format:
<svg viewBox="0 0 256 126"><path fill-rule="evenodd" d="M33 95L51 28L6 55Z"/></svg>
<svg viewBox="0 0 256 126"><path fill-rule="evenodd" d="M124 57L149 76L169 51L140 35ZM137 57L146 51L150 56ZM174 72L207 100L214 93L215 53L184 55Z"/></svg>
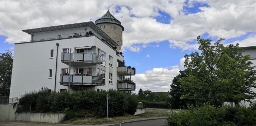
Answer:
<svg viewBox="0 0 256 126"><path fill-rule="evenodd" d="M184 112L171 113L170 126L256 125L256 111L241 106L216 108L204 105Z"/></svg>

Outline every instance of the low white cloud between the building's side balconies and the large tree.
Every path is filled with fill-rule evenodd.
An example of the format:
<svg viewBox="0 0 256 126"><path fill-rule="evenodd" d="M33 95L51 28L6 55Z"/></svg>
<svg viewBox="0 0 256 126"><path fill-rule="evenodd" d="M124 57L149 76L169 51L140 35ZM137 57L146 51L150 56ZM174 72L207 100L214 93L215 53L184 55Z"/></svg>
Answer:
<svg viewBox="0 0 256 126"><path fill-rule="evenodd" d="M184 58L180 60L180 65L184 64ZM151 90L152 92L167 92L170 90L170 84L175 76L177 76L183 66L175 65L170 68L154 68L144 73L132 76L132 80L136 83L136 91Z"/></svg>

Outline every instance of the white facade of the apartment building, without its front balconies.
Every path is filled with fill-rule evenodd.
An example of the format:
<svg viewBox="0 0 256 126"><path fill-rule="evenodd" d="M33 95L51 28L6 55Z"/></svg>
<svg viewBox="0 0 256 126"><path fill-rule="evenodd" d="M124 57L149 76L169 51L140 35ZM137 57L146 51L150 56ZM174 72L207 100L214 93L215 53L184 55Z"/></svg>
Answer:
<svg viewBox="0 0 256 126"><path fill-rule="evenodd" d="M67 84L60 83L60 75L63 72L61 70L69 69L68 63L63 63L61 60L62 52L64 51L63 49L69 49L69 52L71 50L71 52L78 53L78 47L89 48L89 50L91 50L90 53L96 55L101 53L101 51L105 52L105 66L93 62L80 63L80 61L77 60L74 62L78 63L72 62L70 74L77 73L76 69L82 69L83 73L87 73L88 69L90 76L97 76L97 69L100 69L100 71L105 71L105 85L98 84L98 86L96 86L94 84L72 83L70 84L70 91L75 92L76 90L81 89L91 89L95 91L106 91L108 89L117 90L118 76L121 78L124 77L124 74L118 74L117 72L117 61L123 61L124 57L121 54L116 53L116 50L113 49L115 43L109 36L104 32L102 33L101 30L98 30L99 28L93 22L85 22L84 24L86 23L90 24L90 26L81 25L80 27L73 28L70 28L71 26L56 26L56 29L55 26L53 26L50 28L45 27L23 30L23 32L31 34L31 41L15 44L10 97L20 97L20 94L23 94L26 91L39 90L41 87L48 87L49 89L54 90L55 72L56 92L60 89L68 89ZM57 27L62 29L57 30ZM70 29L64 29L65 27L69 27ZM95 31L95 29L97 30ZM88 31L92 31L93 35L85 36L85 33ZM76 33L79 33L79 36L73 37ZM108 42L104 42L104 39L107 39ZM56 43L59 43L58 52ZM51 55L52 52L53 54ZM57 53L58 59L56 62ZM109 66L109 56L113 57L112 66ZM112 84L109 83L109 73L112 74ZM74 78L75 77L79 78L82 76L74 76ZM84 77L88 78L89 76ZM83 82L85 82L85 80L83 80Z"/></svg>

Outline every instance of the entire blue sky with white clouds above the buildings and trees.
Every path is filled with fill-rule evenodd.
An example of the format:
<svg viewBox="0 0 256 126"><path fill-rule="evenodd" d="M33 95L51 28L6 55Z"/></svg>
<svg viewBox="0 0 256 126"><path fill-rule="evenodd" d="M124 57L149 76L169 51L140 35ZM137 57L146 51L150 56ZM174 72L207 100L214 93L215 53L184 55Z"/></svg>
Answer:
<svg viewBox="0 0 256 126"><path fill-rule="evenodd" d="M167 92L197 36L256 46L255 0L0 0L0 52L30 40L23 29L95 21L109 9L124 26L125 64L137 90ZM137 92L137 91L136 91Z"/></svg>

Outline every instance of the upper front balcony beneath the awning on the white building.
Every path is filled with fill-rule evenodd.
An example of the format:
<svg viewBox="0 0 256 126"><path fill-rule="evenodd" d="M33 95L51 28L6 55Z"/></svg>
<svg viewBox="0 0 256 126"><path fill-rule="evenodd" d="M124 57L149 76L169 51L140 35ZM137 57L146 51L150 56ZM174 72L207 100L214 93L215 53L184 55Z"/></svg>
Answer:
<svg viewBox="0 0 256 126"><path fill-rule="evenodd" d="M95 53L61 53L61 62L69 65L71 55L71 65L85 65L85 64L102 64L102 54Z"/></svg>

